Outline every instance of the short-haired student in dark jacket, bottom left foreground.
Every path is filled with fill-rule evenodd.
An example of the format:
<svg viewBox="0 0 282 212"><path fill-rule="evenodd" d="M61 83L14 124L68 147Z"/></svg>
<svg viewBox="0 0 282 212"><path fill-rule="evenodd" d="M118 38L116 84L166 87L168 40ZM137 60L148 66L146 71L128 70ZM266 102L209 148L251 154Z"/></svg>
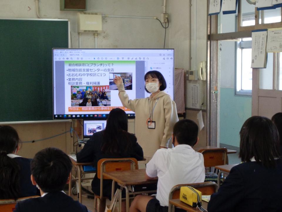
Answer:
<svg viewBox="0 0 282 212"><path fill-rule="evenodd" d="M56 148L46 148L31 162L31 182L40 189L41 197L16 204L14 212L87 212L87 208L63 192L72 163L68 155Z"/></svg>

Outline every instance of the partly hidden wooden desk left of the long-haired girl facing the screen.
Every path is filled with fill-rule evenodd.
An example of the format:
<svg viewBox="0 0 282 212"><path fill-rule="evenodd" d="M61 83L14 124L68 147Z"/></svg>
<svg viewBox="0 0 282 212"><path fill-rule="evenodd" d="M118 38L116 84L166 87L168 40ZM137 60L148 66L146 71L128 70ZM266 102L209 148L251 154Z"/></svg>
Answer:
<svg viewBox="0 0 282 212"><path fill-rule="evenodd" d="M93 165L93 163L77 163L76 156L75 155L69 155L71 163L76 168L76 171L78 171L78 178L73 178L72 174L70 174L70 183L68 184L68 196L71 195L71 184L72 180L78 180L78 200L80 203L82 203L82 196L81 196L81 175L84 172L83 166L85 165ZM96 171L89 171L85 173L96 173ZM93 178L83 178L84 180L92 180Z"/></svg>

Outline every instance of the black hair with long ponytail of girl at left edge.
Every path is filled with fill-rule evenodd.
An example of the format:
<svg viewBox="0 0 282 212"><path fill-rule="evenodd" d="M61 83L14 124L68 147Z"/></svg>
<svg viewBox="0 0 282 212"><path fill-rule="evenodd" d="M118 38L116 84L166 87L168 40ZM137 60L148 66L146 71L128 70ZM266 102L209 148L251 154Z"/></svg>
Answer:
<svg viewBox="0 0 282 212"><path fill-rule="evenodd" d="M19 145L19 135L10 126L0 126L0 199L17 199L20 196L20 166L7 156Z"/></svg>

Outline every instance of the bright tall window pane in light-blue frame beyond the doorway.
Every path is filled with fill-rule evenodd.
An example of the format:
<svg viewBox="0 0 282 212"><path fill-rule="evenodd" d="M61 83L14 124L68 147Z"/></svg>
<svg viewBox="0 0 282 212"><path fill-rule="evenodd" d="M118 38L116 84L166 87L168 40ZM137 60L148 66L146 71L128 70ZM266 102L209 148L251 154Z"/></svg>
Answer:
<svg viewBox="0 0 282 212"><path fill-rule="evenodd" d="M242 49L241 90L252 90L252 49Z"/></svg>

